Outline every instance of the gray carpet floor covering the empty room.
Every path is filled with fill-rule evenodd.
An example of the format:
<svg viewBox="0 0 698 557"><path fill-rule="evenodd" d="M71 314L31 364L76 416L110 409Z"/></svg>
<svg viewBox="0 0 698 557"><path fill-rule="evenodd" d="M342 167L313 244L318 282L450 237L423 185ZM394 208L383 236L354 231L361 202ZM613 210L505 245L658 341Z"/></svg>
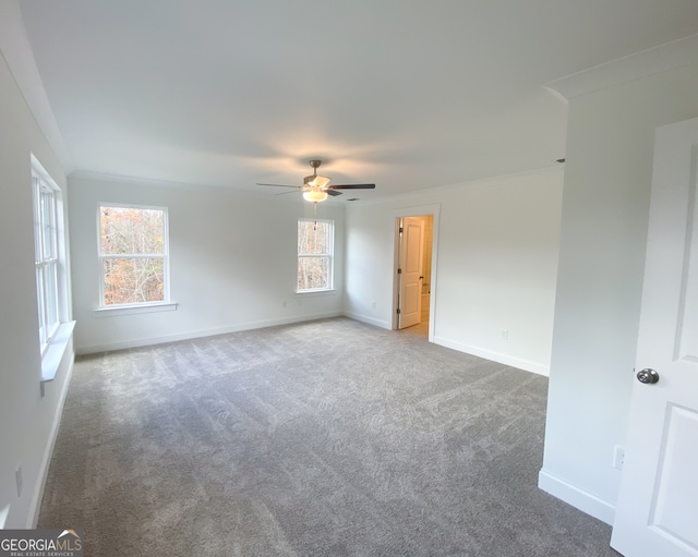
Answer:
<svg viewBox="0 0 698 557"><path fill-rule="evenodd" d="M547 379L345 318L79 358L39 528L86 556L616 556L537 487Z"/></svg>

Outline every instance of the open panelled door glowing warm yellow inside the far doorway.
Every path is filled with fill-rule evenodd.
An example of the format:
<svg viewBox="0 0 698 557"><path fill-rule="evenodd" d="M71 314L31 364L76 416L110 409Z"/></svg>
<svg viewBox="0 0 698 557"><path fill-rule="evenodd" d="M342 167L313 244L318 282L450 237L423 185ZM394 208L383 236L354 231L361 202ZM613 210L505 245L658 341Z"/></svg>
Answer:
<svg viewBox="0 0 698 557"><path fill-rule="evenodd" d="M422 320L422 263L424 258L424 221L416 217L402 219L400 241L400 316L398 328L419 325Z"/></svg>

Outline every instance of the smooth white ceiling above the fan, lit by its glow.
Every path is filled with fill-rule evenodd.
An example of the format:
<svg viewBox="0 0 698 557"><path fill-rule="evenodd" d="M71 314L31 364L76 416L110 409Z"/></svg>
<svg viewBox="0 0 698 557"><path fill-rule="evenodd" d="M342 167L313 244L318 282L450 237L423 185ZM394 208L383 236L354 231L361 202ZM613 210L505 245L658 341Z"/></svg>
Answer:
<svg viewBox="0 0 698 557"><path fill-rule="evenodd" d="M265 195L311 158L363 198L553 166L543 84L698 33L696 0L19 3L69 172Z"/></svg>

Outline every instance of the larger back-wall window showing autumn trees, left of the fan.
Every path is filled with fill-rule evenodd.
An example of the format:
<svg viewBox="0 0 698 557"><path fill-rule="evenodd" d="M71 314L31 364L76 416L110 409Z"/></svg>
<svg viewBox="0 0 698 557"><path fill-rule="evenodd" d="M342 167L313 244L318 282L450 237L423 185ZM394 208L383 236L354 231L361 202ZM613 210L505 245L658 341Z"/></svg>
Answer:
<svg viewBox="0 0 698 557"><path fill-rule="evenodd" d="M169 302L167 209L99 207L100 306Z"/></svg>

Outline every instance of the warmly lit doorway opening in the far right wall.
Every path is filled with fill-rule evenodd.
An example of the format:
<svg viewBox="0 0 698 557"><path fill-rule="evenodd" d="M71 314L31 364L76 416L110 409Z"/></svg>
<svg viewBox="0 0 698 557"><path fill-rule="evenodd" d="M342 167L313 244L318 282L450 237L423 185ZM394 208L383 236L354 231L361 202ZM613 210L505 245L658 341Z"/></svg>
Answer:
<svg viewBox="0 0 698 557"><path fill-rule="evenodd" d="M395 219L394 329L432 340L434 214Z"/></svg>

